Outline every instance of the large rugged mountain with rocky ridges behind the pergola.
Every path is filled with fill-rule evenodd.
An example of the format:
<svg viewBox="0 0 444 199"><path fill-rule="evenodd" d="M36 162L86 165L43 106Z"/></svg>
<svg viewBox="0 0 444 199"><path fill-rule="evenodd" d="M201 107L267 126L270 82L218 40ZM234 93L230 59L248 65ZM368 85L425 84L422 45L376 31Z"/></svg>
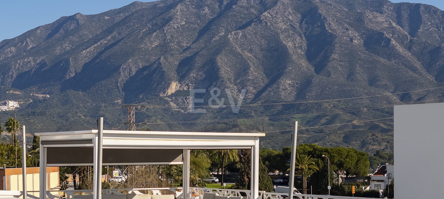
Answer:
<svg viewBox="0 0 444 199"><path fill-rule="evenodd" d="M140 104L154 106L136 112L151 130L258 132L291 129L294 119L301 127L354 122L301 130L298 142L391 151L392 119L356 122L392 116L390 107L371 107L443 96L443 89L389 95L443 86L443 26L438 8L386 0L134 2L64 16L1 41L0 100L20 101L17 118L32 132L91 129L100 115L107 128L123 129L116 124L126 110L115 107ZM191 89L206 90L197 105L224 98L228 106L190 113ZM262 105L234 113L226 89L234 102L245 89L242 104ZM375 97L356 98L362 96ZM356 99L292 103L344 98ZM319 113L353 108L359 110ZM11 115L2 111L0 119ZM250 119L174 123L233 118ZM290 133L267 133L262 146L289 145Z"/></svg>

